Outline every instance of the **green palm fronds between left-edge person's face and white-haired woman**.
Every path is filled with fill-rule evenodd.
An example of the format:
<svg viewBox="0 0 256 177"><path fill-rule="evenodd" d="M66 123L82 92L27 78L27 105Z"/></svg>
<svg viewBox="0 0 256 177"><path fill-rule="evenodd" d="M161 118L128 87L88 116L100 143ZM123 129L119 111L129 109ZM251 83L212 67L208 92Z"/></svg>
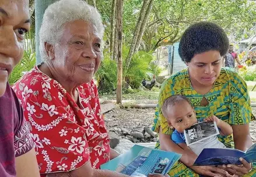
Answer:
<svg viewBox="0 0 256 177"><path fill-rule="evenodd" d="M10 85L17 82L24 75L33 68L36 64L36 52L33 51L35 46L34 38L31 38L31 33L26 34L24 40L24 55L22 60L15 66L9 77Z"/></svg>

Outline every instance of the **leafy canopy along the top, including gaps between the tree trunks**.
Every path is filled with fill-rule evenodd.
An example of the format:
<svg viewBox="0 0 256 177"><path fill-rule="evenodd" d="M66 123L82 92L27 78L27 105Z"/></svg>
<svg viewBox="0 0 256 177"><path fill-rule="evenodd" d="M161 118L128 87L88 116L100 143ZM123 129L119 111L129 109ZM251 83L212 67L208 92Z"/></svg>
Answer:
<svg viewBox="0 0 256 177"><path fill-rule="evenodd" d="M110 37L111 0L97 1L97 8L106 25L106 39ZM130 44L142 7L142 0L124 1L123 34ZM180 40L181 34L192 23L209 21L225 29L232 43L250 38L255 32L256 3L247 0L155 0L143 35L145 51L155 50ZM165 42L164 40L167 40Z"/></svg>

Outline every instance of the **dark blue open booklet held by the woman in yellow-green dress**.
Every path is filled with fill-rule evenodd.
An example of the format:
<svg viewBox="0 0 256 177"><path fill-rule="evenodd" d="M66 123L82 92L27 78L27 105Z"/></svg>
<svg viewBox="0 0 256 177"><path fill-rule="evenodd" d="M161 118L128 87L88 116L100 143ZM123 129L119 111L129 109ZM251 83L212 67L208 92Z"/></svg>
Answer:
<svg viewBox="0 0 256 177"><path fill-rule="evenodd" d="M256 162L256 144L248 148L246 153L233 148L204 148L195 161L194 166L240 165L240 157L243 157L247 162Z"/></svg>

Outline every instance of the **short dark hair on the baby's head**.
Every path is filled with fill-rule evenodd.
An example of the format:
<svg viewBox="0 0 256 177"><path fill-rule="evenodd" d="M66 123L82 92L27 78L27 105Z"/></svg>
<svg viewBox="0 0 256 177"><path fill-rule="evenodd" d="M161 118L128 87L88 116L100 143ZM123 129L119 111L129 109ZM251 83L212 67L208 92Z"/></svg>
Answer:
<svg viewBox="0 0 256 177"><path fill-rule="evenodd" d="M170 97L166 98L166 100L164 100L163 106L162 106L162 114L165 118L167 118L167 111L168 108L176 105L177 103L181 102L181 101L187 101L188 104L191 105L190 101L188 101L188 98L185 97L184 95L171 95ZM192 105L191 105L192 107Z"/></svg>

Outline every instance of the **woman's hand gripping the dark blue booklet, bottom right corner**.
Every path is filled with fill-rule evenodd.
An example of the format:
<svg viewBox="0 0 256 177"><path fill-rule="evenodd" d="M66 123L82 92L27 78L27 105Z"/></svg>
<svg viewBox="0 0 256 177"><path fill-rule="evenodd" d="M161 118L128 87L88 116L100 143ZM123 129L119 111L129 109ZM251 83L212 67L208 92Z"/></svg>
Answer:
<svg viewBox="0 0 256 177"><path fill-rule="evenodd" d="M251 163L248 163L243 158L239 158L239 160L241 161L241 163L243 165L232 165L232 164L227 165L226 170L231 172L232 174L236 174L238 176L244 176L251 171L252 165L251 165ZM225 167L225 166L223 166L223 167Z"/></svg>

